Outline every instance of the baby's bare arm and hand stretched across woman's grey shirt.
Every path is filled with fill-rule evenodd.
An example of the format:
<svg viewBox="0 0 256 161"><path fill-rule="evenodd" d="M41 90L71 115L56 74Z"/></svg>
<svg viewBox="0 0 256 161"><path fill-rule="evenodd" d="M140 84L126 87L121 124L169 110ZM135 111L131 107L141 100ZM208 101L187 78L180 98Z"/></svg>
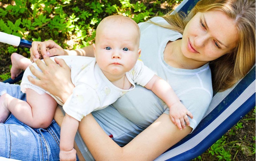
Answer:
<svg viewBox="0 0 256 161"><path fill-rule="evenodd" d="M190 118L193 118L192 113L189 112L184 105L182 105L172 87L165 80L154 75L153 78L150 79L150 81L145 85L145 87L154 92L166 103L166 105L170 108L170 117L172 122L176 124L180 130L186 127L185 122L188 126L190 125L187 115L189 115Z"/></svg>

